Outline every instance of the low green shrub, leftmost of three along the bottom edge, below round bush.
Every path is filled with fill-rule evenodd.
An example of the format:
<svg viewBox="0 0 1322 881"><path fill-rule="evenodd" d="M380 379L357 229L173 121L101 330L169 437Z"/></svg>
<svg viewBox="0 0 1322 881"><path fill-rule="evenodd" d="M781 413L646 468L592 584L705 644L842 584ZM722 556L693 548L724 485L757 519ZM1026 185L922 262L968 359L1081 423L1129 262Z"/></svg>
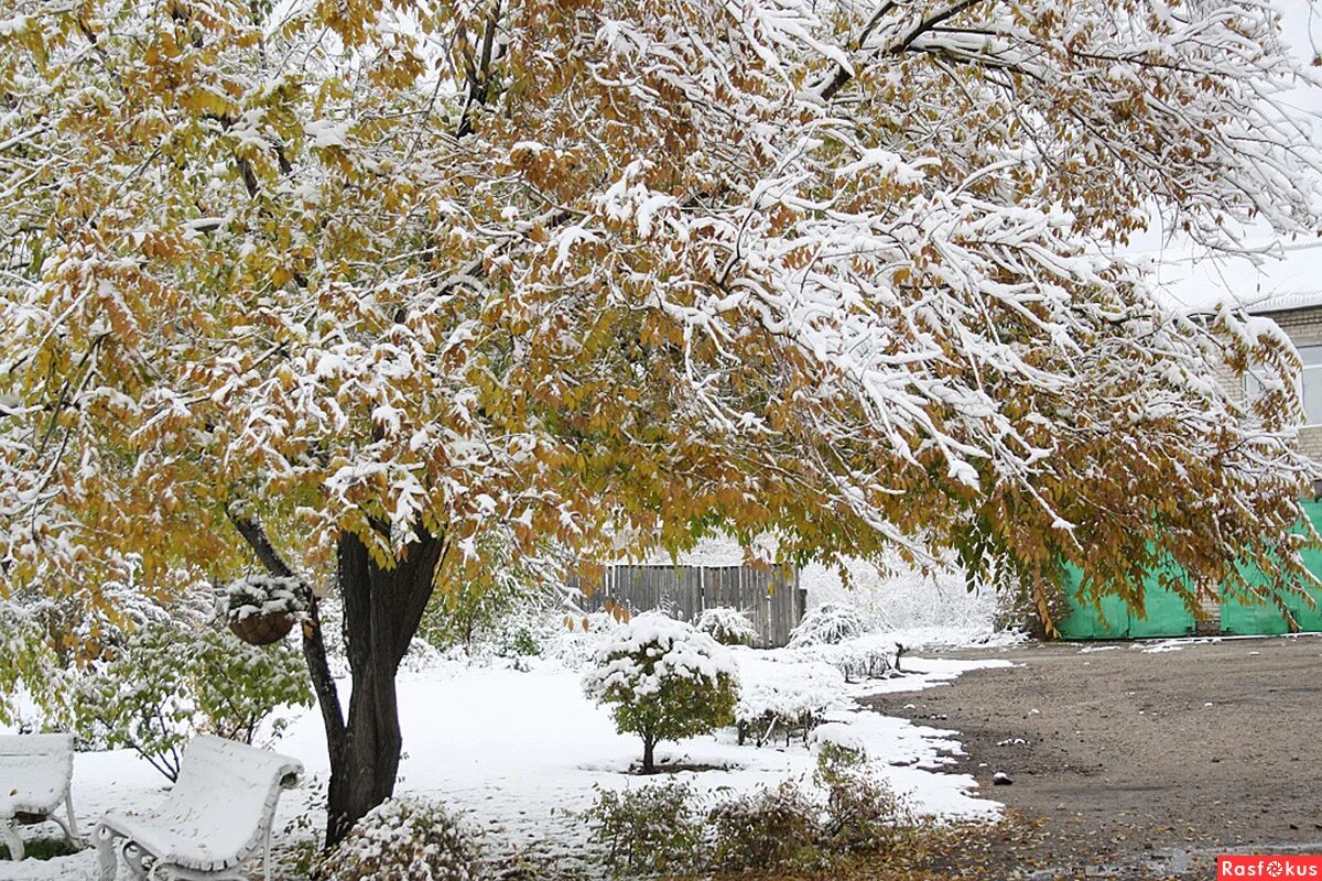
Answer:
<svg viewBox="0 0 1322 881"><path fill-rule="evenodd" d="M599 790L584 814L615 877L683 874L702 861L702 818L683 783Z"/></svg>

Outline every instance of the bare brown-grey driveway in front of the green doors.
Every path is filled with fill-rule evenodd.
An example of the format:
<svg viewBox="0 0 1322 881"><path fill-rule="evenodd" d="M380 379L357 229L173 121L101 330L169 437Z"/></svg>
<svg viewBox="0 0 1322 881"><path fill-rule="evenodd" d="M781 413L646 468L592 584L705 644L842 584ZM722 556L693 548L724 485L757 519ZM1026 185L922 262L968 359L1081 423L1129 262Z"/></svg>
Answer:
<svg viewBox="0 0 1322 881"><path fill-rule="evenodd" d="M1322 853L1322 637L952 654L1017 666L873 704L958 730L958 770L1047 820L1036 877L1212 878L1227 849ZM995 771L1014 783L993 789Z"/></svg>

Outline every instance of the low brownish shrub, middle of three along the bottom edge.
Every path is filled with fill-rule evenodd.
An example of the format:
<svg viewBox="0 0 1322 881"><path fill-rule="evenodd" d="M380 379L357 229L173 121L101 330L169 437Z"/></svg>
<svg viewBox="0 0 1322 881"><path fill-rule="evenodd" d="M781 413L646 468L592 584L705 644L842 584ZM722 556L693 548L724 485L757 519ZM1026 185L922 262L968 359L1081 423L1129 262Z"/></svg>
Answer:
<svg viewBox="0 0 1322 881"><path fill-rule="evenodd" d="M713 808L709 820L715 869L798 872L821 864L821 808L797 783L732 796Z"/></svg>

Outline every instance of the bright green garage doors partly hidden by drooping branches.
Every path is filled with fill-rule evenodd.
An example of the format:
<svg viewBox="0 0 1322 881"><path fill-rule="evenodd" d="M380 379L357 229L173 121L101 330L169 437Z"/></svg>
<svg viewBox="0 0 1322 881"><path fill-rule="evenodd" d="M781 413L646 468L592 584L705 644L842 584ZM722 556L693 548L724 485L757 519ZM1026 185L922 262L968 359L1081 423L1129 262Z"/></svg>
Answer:
<svg viewBox="0 0 1322 881"><path fill-rule="evenodd" d="M1303 502L1313 524L1322 531L1322 502ZM1305 551L1303 561L1313 575L1322 577L1322 551ZM1256 567L1249 569L1265 579ZM1252 580L1253 575L1249 575ZM1145 616L1129 612L1117 597L1105 597L1099 612L1091 604L1080 604L1076 596L1080 573L1069 568L1066 575L1066 601L1069 614L1060 621L1064 639L1140 639L1147 637L1185 637L1194 633L1194 616L1183 600L1157 582L1155 573L1144 582ZM1290 598L1286 606L1301 630L1322 631L1322 590L1314 592L1317 608L1309 609L1302 598ZM1243 605L1235 600L1222 600L1222 633L1233 635L1289 633L1289 625L1276 606L1269 604Z"/></svg>

